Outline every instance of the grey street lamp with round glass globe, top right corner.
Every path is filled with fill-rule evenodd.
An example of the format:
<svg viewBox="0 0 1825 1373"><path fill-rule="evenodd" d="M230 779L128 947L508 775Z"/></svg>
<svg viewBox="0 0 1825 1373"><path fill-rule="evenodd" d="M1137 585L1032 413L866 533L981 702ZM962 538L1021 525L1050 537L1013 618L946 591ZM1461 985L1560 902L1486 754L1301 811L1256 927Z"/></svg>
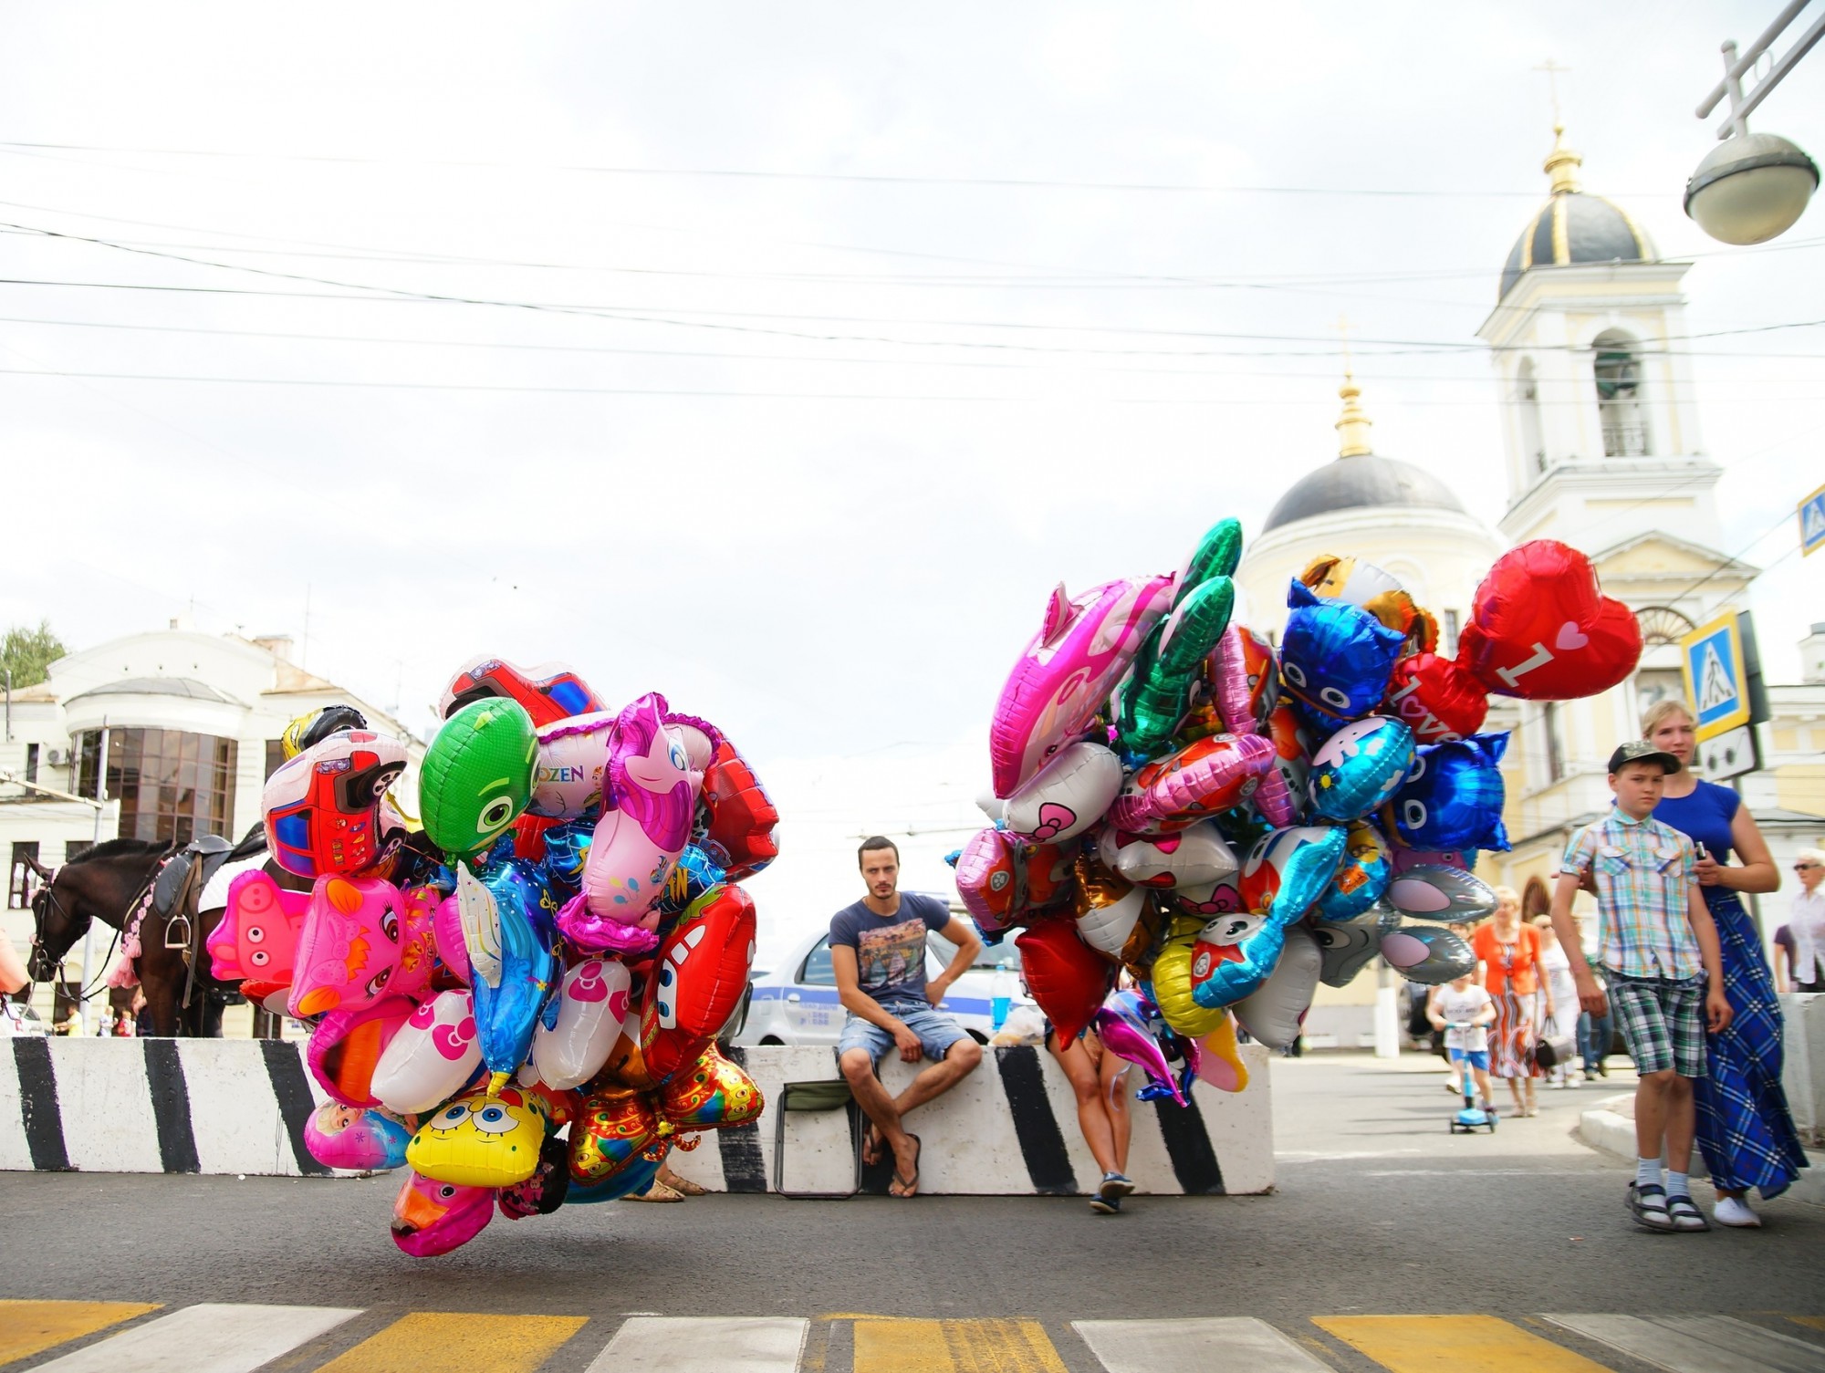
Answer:
<svg viewBox="0 0 1825 1373"><path fill-rule="evenodd" d="M1730 97L1730 117L1717 128L1723 141L1697 164L1686 181L1686 215L1723 243L1767 243L1794 226L1820 184L1818 164L1778 133L1750 133L1748 115L1794 69L1801 57L1825 37L1820 18L1799 42L1768 68L1756 89L1743 95L1743 75L1768 51L1810 0L1792 0L1774 24L1737 55L1736 44L1723 46L1723 80L1697 108L1706 119L1719 100Z"/></svg>

